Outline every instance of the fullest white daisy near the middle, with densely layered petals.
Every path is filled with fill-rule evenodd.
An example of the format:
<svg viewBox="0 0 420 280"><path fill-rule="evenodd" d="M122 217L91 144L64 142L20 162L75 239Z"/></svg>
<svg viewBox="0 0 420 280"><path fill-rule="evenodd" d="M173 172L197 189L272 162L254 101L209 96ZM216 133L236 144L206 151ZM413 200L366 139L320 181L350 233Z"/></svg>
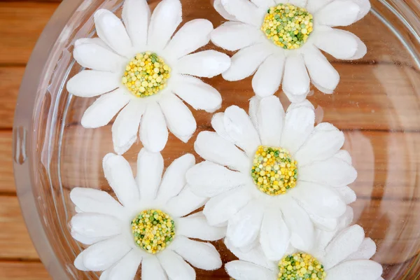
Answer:
<svg viewBox="0 0 420 280"><path fill-rule="evenodd" d="M346 204L356 200L347 185L357 176L344 134L330 123L314 127L314 107L278 97L253 97L250 116L237 106L211 120L195 151L204 158L187 172L193 192L211 197L204 207L210 225L227 223L227 238L245 251L261 244L279 260L288 248L307 251L314 225L334 230Z"/></svg>

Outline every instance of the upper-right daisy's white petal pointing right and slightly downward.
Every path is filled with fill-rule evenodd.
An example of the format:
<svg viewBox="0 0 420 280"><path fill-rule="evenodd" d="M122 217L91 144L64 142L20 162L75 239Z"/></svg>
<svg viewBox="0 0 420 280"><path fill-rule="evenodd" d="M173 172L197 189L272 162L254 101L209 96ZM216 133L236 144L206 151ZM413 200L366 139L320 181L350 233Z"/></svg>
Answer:
<svg viewBox="0 0 420 280"><path fill-rule="evenodd" d="M321 50L328 52L337 59L353 59L358 52L359 42L348 31L340 29L327 29L318 31L315 45Z"/></svg>

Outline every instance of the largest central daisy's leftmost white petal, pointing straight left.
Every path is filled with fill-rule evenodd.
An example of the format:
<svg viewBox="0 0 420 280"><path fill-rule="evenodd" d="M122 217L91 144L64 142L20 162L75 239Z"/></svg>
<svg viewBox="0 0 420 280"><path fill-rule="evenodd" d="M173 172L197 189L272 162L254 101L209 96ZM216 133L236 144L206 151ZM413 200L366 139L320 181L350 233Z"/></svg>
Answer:
<svg viewBox="0 0 420 280"><path fill-rule="evenodd" d="M197 195L214 197L244 185L248 178L213 162L200 162L187 172L187 182Z"/></svg>

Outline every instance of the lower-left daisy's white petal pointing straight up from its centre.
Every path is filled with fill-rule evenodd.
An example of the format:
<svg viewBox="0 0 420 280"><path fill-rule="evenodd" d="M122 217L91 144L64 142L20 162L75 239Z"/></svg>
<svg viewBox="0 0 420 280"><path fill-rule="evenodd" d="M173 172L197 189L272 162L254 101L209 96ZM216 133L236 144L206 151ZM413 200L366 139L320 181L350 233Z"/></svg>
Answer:
<svg viewBox="0 0 420 280"><path fill-rule="evenodd" d="M142 148L137 155L137 186L141 200L154 200L158 193L163 172L163 158L160 153L151 153Z"/></svg>

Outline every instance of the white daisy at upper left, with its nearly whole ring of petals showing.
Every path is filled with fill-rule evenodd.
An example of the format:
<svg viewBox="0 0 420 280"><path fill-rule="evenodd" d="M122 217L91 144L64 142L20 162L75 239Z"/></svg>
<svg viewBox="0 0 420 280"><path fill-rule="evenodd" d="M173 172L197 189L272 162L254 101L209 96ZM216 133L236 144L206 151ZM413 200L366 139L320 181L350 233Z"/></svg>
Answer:
<svg viewBox="0 0 420 280"><path fill-rule="evenodd" d="M195 52L209 43L213 25L209 20L191 20L172 37L182 22L179 0L162 0L153 15L146 0L125 0L122 18L123 22L109 10L97 10L99 38L75 43L76 61L92 70L71 78L67 90L78 97L102 94L85 111L83 127L107 125L120 111L112 127L118 154L134 144L138 133L152 152L165 147L167 128L188 141L197 124L181 99L208 112L219 109L222 102L214 87L193 76L211 78L230 66L230 57L221 52Z"/></svg>

